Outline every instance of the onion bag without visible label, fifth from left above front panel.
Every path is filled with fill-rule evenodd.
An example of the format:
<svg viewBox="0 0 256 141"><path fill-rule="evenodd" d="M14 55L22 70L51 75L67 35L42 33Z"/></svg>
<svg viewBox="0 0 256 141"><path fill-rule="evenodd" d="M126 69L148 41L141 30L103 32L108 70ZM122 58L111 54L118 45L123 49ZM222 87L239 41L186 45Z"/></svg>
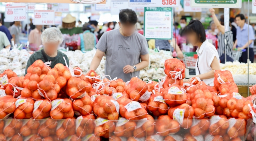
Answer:
<svg viewBox="0 0 256 141"><path fill-rule="evenodd" d="M74 99L72 107L76 115L90 115L92 113L91 97L85 95L80 99Z"/></svg>

